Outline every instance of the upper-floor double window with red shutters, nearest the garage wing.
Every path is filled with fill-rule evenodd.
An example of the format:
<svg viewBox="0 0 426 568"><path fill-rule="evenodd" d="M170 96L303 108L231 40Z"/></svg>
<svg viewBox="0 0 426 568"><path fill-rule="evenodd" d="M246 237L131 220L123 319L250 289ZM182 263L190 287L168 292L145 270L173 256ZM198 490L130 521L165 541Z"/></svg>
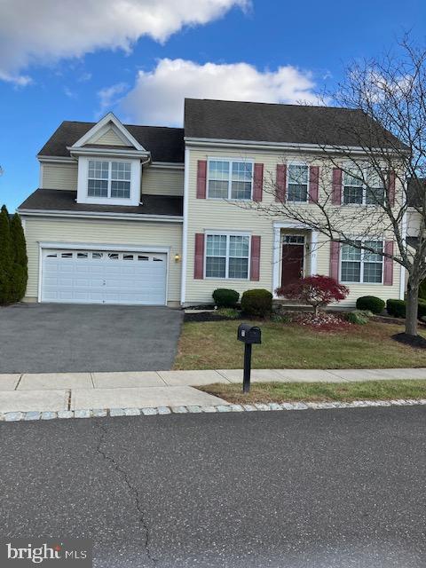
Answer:
<svg viewBox="0 0 426 568"><path fill-rule="evenodd" d="M209 198L250 200L252 162L209 160Z"/></svg>

